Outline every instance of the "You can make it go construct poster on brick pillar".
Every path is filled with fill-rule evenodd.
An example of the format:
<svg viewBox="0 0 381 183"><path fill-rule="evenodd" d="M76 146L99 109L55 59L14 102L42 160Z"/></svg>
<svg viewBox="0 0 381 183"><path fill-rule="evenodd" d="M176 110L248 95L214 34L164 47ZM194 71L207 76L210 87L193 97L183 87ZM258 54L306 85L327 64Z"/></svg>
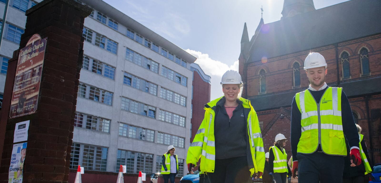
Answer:
<svg viewBox="0 0 381 183"><path fill-rule="evenodd" d="M27 142L13 145L8 183L22 183L26 146Z"/></svg>

